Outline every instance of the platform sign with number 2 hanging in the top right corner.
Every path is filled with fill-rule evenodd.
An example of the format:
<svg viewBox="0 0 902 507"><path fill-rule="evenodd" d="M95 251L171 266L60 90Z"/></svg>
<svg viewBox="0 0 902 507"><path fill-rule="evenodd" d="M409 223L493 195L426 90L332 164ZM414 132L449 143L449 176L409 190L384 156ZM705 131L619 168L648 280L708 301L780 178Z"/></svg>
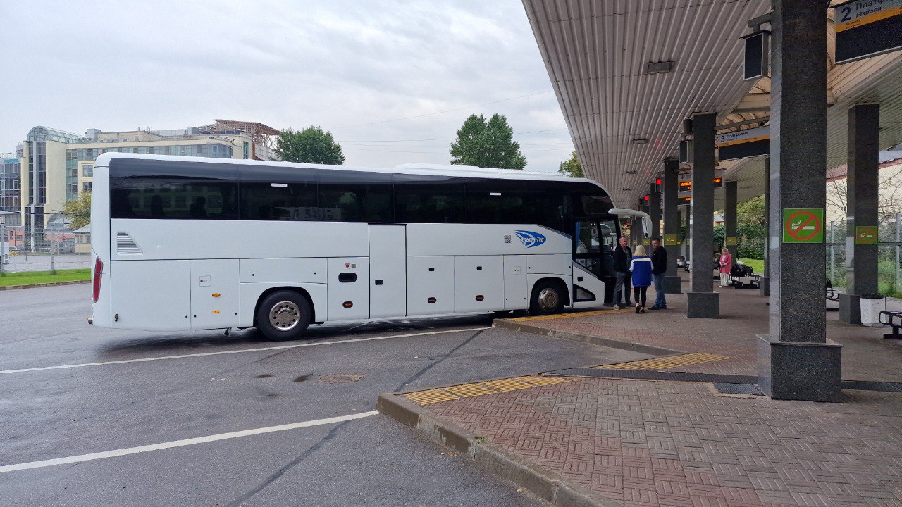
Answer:
<svg viewBox="0 0 902 507"><path fill-rule="evenodd" d="M853 0L833 9L836 63L902 49L902 0Z"/></svg>

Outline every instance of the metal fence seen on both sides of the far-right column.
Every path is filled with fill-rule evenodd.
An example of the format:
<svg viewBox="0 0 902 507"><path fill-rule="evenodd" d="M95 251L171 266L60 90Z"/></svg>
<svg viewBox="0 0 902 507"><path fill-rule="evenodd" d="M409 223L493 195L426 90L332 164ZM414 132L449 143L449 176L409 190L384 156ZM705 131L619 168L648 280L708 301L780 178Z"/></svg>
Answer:
<svg viewBox="0 0 902 507"><path fill-rule="evenodd" d="M827 229L827 277L833 287L846 286L849 266L846 249L851 238L846 236L846 222L831 222ZM885 295L902 296L902 214L879 226L878 235L878 290Z"/></svg>

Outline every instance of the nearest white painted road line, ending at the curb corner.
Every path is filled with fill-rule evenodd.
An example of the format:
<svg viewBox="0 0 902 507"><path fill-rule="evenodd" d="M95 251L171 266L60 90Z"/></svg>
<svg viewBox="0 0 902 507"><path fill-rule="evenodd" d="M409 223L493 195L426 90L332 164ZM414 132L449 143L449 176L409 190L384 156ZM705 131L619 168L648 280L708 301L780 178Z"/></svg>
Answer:
<svg viewBox="0 0 902 507"><path fill-rule="evenodd" d="M370 410L359 414L350 414L346 416L330 417L327 419L305 420L303 422L294 422L291 424L282 424L280 426L268 426L258 429L244 429L243 431L233 431L231 433L220 433L218 435L208 435L207 437L186 438L184 440L172 440L171 442L163 442L161 444L152 444L150 446L126 447L124 449L116 449L100 453L83 454L79 456L58 457L55 459L44 459L42 461L31 461L28 463L20 463L18 465L0 466L0 474L4 472L15 472L17 470L28 470L29 468L43 468L44 466L66 465L67 463L78 463L81 461L91 461L95 459L104 459L106 457L127 456L130 454L139 454L150 451L158 451L160 449L170 449L172 447L193 446L195 444L204 444L207 442L216 442L216 440L226 440L228 438L249 437L251 435L260 435L262 433L272 433L274 431L285 431L286 429L309 428L311 426L321 426L324 424L332 424L335 422L343 422L345 420L362 419L378 414L378 410Z"/></svg>

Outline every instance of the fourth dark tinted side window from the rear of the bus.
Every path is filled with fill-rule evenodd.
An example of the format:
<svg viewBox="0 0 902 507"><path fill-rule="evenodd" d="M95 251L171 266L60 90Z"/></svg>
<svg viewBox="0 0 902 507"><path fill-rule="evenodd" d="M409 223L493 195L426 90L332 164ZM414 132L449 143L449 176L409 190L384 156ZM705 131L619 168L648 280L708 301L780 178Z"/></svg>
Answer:
<svg viewBox="0 0 902 507"><path fill-rule="evenodd" d="M395 220L447 224L464 221L464 180L396 174Z"/></svg>

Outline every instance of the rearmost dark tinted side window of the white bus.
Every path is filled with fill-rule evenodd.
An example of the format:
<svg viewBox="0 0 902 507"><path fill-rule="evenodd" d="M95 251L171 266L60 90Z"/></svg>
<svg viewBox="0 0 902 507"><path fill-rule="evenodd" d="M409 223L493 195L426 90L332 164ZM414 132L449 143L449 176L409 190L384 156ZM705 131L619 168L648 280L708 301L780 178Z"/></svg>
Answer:
<svg viewBox="0 0 902 507"><path fill-rule="evenodd" d="M238 171L224 164L114 159L110 217L236 219Z"/></svg>

